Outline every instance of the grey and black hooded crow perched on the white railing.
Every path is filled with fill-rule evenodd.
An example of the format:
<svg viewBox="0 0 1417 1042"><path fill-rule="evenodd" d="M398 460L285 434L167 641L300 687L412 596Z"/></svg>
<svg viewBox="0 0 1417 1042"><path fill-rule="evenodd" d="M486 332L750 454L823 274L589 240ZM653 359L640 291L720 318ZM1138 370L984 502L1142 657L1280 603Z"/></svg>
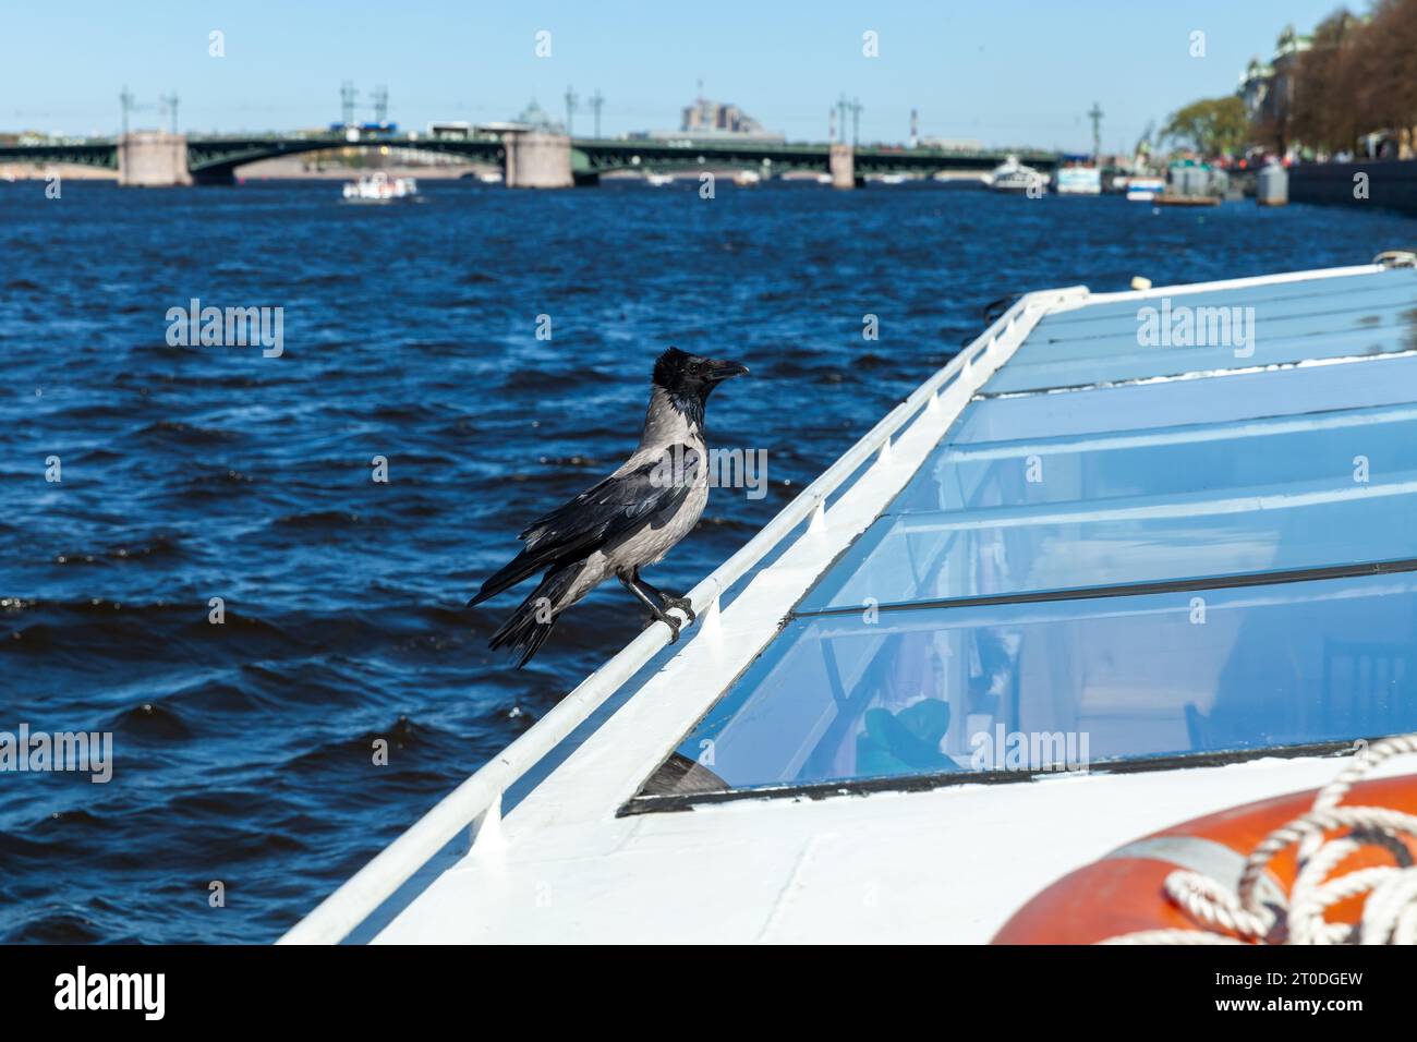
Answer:
<svg viewBox="0 0 1417 1042"><path fill-rule="evenodd" d="M544 571L489 646L521 652L517 666L524 666L561 612L611 576L669 627L670 642L679 639L680 622L667 610L679 608L691 622L689 600L656 590L639 570L663 559L699 523L708 502L704 405L714 387L747 371L737 362L677 347L659 356L639 448L605 481L531 522L519 536L526 543L521 553L468 601L469 608L482 604Z"/></svg>

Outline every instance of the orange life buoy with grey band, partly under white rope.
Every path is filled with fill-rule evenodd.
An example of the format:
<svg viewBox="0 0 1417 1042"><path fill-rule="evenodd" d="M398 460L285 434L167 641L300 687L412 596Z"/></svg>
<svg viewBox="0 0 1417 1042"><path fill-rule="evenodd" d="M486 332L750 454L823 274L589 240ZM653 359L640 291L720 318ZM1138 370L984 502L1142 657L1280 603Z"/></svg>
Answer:
<svg viewBox="0 0 1417 1042"><path fill-rule="evenodd" d="M1314 805L1318 790L1231 807L1227 811L1175 825L1119 846L1100 861L1034 896L993 937L993 944L1093 944L1144 930L1200 930L1172 903L1163 889L1176 869L1192 869L1234 886L1250 852L1274 829ZM1345 804L1389 807L1417 814L1417 774L1362 781ZM1399 838L1417 859L1417 841ZM1289 892L1297 870L1297 848L1280 852L1260 882L1260 897ZM1342 870L1391 865L1393 853L1372 846L1356 851ZM1362 897L1328 910L1336 923L1355 923Z"/></svg>

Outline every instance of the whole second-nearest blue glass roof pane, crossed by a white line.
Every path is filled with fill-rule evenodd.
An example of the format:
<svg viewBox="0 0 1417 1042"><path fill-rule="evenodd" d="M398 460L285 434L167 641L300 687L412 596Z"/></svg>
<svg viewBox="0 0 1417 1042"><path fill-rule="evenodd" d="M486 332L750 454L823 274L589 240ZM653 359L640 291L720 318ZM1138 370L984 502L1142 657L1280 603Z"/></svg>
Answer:
<svg viewBox="0 0 1417 1042"><path fill-rule="evenodd" d="M1413 407L947 442L798 611L1401 560L1414 517Z"/></svg>

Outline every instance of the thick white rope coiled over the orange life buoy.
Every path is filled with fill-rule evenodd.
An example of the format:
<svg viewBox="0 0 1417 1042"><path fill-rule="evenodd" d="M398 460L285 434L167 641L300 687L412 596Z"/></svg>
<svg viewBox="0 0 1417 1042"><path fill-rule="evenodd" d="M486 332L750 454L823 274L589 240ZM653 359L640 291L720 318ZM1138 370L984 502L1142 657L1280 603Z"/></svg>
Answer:
<svg viewBox="0 0 1417 1042"><path fill-rule="evenodd" d="M1203 929L1144 930L1102 944L1417 944L1417 866L1401 836L1417 839L1417 817L1389 807L1342 805L1366 774L1394 756L1417 753L1417 733L1362 747L1319 790L1314 805L1267 835L1246 858L1240 886L1231 890L1202 872L1166 876L1166 897ZM1338 829L1346 834L1326 838ZM1298 873L1288 899L1265 904L1260 880L1281 851L1298 844ZM1379 846L1393 865L1332 876L1349 856ZM1331 923L1329 907L1363 896L1362 919Z"/></svg>

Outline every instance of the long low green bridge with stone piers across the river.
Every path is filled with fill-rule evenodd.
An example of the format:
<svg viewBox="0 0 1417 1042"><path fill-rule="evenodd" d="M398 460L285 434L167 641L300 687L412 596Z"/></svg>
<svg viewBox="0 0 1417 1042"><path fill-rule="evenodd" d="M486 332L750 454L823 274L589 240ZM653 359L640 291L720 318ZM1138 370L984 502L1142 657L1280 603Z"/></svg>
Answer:
<svg viewBox="0 0 1417 1042"><path fill-rule="evenodd" d="M123 184L231 184L235 170L281 156L337 149L412 149L502 166L509 187L595 184L602 173L642 170L745 167L764 176L788 172L832 174L852 187L869 174L932 176L986 173L1003 162L1002 152L954 152L890 146L788 145L761 140L608 140L538 132L468 138L368 135L350 140L340 133L183 136L136 132L119 139L72 145L0 145L0 162L79 163L119 172ZM1017 153L1043 172L1057 166L1046 152Z"/></svg>

